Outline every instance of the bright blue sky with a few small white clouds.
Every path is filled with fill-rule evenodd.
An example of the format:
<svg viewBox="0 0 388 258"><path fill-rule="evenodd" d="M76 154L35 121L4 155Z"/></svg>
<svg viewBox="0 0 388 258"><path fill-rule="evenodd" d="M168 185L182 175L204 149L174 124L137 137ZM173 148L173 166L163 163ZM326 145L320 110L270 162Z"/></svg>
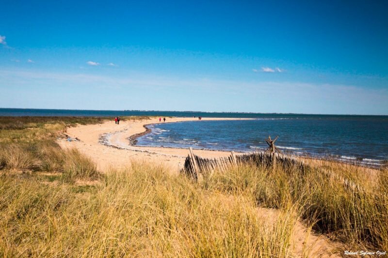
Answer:
<svg viewBox="0 0 388 258"><path fill-rule="evenodd" d="M0 6L0 107L388 114L387 1Z"/></svg>

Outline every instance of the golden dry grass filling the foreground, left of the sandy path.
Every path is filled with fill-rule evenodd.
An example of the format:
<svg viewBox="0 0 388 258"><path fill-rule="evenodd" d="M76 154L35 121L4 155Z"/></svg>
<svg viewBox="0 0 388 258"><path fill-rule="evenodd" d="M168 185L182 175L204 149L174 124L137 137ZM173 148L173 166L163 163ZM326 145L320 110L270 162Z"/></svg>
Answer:
<svg viewBox="0 0 388 258"><path fill-rule="evenodd" d="M296 217L204 189L163 167L110 171L84 191L0 177L0 255L287 257Z"/></svg>

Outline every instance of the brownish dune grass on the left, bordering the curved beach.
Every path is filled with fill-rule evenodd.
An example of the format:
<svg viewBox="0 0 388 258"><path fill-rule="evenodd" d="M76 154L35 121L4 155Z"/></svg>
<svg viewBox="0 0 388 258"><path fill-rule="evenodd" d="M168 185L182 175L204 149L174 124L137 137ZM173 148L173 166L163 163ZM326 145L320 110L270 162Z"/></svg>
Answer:
<svg viewBox="0 0 388 258"><path fill-rule="evenodd" d="M55 142L69 126L110 118L0 117L0 169L63 172L66 179L97 176L96 166L76 150L64 152ZM123 121L148 117L123 117Z"/></svg>

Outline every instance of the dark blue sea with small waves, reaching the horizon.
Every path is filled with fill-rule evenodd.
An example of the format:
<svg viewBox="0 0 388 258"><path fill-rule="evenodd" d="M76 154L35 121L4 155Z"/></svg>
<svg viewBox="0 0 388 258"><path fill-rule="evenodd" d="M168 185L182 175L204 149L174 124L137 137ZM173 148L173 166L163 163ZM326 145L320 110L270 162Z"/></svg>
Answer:
<svg viewBox="0 0 388 258"><path fill-rule="evenodd" d="M388 116L207 113L0 108L0 116L162 116L254 118L238 121L189 121L151 125L141 146L249 152L264 150L264 139L284 152L333 157L369 165L388 159Z"/></svg>

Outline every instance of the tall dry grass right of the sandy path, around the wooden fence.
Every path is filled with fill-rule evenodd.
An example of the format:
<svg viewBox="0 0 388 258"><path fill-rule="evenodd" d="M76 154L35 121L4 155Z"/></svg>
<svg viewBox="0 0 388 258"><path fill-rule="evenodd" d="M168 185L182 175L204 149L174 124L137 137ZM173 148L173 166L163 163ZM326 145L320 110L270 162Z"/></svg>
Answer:
<svg viewBox="0 0 388 258"><path fill-rule="evenodd" d="M242 165L216 171L201 183L210 190L254 196L261 207L283 210L290 203L297 205L298 216L318 232L348 246L387 250L388 173L371 176L363 170L339 164L307 170ZM353 189L339 178L359 187Z"/></svg>

